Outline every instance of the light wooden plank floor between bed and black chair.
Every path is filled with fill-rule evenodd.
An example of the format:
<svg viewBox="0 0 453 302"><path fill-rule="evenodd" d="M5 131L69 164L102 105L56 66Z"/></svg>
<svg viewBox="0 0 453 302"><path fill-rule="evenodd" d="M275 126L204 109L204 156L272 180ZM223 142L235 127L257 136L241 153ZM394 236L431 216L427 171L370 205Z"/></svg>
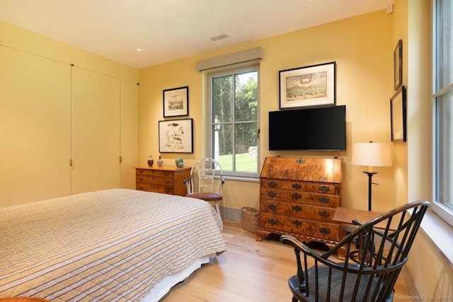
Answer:
<svg viewBox="0 0 453 302"><path fill-rule="evenodd" d="M258 242L236 221L224 221L223 236L226 252L174 286L161 302L291 301L287 279L295 274L296 260L289 245L272 235ZM395 289L396 295L408 296L402 281Z"/></svg>

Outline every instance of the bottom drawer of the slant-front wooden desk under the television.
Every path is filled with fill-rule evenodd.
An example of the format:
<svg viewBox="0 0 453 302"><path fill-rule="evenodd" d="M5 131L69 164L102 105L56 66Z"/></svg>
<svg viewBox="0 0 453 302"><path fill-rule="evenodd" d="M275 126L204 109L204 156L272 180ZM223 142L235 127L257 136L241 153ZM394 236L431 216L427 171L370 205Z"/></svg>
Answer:
<svg viewBox="0 0 453 302"><path fill-rule="evenodd" d="M260 213L260 227L282 233L294 233L302 236L340 241L344 236L339 223L328 223L298 217Z"/></svg>

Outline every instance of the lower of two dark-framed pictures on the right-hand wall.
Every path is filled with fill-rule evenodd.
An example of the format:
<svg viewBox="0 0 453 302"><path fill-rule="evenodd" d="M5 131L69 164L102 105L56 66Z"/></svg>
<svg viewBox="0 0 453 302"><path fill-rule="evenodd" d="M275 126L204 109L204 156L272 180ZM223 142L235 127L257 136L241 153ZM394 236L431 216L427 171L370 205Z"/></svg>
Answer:
<svg viewBox="0 0 453 302"><path fill-rule="evenodd" d="M406 141L406 88L400 86L390 99L391 141Z"/></svg>

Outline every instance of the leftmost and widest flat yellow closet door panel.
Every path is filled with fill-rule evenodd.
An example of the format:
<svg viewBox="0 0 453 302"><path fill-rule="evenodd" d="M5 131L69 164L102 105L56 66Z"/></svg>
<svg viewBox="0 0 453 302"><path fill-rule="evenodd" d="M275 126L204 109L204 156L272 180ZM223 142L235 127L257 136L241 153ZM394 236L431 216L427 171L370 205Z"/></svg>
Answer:
<svg viewBox="0 0 453 302"><path fill-rule="evenodd" d="M0 45L0 206L71 194L71 67Z"/></svg>

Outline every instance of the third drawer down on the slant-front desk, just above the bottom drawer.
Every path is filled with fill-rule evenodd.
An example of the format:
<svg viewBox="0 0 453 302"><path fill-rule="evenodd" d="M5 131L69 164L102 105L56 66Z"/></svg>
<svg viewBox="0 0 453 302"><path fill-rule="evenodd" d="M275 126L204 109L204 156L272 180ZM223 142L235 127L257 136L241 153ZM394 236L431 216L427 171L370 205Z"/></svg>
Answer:
<svg viewBox="0 0 453 302"><path fill-rule="evenodd" d="M332 221L333 215L335 214L334 208L312 206L310 204L280 202L278 200L268 199L261 199L260 211L262 213L294 216L319 221Z"/></svg>

